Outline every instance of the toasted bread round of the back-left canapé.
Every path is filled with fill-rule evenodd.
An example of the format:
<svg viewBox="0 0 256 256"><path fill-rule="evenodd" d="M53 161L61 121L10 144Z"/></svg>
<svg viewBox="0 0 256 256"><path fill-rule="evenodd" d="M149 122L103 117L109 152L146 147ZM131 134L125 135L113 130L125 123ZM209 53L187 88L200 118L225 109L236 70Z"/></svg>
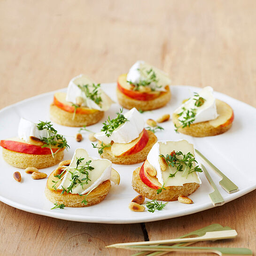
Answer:
<svg viewBox="0 0 256 256"><path fill-rule="evenodd" d="M70 113L54 104L50 105L50 118L57 124L73 127L88 126L98 123L104 116L104 111L97 110L90 114ZM74 118L73 118L74 117Z"/></svg>

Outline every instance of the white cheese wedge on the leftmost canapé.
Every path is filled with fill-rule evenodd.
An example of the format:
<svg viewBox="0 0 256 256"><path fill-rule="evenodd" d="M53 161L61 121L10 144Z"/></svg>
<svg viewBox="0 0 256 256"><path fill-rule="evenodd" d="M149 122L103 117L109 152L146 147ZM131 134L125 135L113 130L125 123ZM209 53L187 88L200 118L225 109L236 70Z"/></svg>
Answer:
<svg viewBox="0 0 256 256"><path fill-rule="evenodd" d="M30 136L41 139L43 137L47 137L47 130L38 130L37 124L21 118L19 127L18 127L18 136L20 139L29 142Z"/></svg>

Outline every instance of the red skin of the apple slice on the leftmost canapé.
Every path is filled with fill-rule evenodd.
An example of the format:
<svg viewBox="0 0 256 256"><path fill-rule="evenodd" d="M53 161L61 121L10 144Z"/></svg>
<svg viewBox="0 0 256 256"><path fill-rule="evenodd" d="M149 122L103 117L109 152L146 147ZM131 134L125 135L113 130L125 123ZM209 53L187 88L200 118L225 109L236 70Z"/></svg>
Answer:
<svg viewBox="0 0 256 256"><path fill-rule="evenodd" d="M15 152L33 154L33 155L50 155L51 150L48 147L36 146L28 143L23 143L14 140L1 140L0 146ZM53 152L56 152L58 148L52 148ZM62 149L61 149L62 150Z"/></svg>

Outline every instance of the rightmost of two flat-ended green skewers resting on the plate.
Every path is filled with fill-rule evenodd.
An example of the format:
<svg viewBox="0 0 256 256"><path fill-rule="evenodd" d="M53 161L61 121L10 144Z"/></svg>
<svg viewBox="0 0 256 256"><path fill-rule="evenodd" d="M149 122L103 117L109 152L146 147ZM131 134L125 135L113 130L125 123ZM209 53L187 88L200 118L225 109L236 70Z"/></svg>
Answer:
<svg viewBox="0 0 256 256"><path fill-rule="evenodd" d="M201 152L199 152L197 149L195 149L195 152L207 163L209 166L217 172L217 174L222 178L222 180L219 182L219 185L222 186L226 192L229 194L237 192L238 186L236 186L229 178L225 176L213 163L211 163L204 155L202 155Z"/></svg>

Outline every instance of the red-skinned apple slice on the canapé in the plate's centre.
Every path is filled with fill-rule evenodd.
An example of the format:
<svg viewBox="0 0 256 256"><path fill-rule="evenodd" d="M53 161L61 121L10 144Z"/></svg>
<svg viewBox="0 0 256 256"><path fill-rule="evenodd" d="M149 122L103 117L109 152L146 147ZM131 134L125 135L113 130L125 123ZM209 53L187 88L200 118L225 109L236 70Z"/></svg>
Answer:
<svg viewBox="0 0 256 256"><path fill-rule="evenodd" d="M112 154L115 156L132 155L142 150L147 145L149 135L144 128L140 136L130 143L113 143L111 146Z"/></svg>

